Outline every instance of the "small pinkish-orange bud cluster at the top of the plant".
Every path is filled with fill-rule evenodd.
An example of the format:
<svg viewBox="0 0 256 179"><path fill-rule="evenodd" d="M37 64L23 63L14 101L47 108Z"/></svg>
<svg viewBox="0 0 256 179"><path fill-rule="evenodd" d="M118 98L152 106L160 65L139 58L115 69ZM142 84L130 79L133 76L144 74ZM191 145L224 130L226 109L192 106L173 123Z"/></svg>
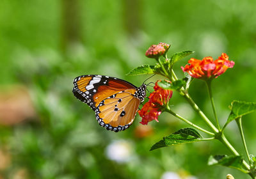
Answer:
<svg viewBox="0 0 256 179"><path fill-rule="evenodd" d="M158 43L158 45L151 45L147 52L146 52L146 56L148 58L159 58L159 56L165 54L168 49L170 48L170 45L167 43Z"/></svg>

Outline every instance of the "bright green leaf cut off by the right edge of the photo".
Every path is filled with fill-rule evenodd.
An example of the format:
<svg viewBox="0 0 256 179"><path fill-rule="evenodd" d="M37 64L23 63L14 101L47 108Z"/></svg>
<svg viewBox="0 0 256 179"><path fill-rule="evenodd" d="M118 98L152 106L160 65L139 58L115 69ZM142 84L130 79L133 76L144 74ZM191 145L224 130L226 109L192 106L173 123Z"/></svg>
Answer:
<svg viewBox="0 0 256 179"><path fill-rule="evenodd" d="M253 111L256 110L256 103L255 102L242 102L238 100L234 100L231 103L231 113L228 116L228 120L225 123L224 127L225 128L228 123L232 120L236 120L237 118L240 118L246 114L252 113Z"/></svg>

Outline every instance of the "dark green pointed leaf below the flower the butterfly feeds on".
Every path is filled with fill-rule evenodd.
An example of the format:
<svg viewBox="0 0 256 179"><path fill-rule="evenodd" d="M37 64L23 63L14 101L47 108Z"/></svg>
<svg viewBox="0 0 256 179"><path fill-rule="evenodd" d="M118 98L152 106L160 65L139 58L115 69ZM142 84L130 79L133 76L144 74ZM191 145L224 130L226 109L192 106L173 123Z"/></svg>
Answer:
<svg viewBox="0 0 256 179"><path fill-rule="evenodd" d="M170 136L163 137L163 140L154 144L150 148L150 150L155 150L164 146L173 146L182 143L193 143L196 141L200 141L200 139L202 139L202 136L194 128L181 128Z"/></svg>

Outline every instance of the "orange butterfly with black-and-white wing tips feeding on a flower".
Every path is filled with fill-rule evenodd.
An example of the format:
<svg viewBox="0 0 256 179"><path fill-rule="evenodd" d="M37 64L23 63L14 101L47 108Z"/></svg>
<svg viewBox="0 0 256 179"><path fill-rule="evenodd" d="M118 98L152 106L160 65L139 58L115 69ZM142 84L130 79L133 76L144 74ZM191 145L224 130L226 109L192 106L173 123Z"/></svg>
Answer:
<svg viewBox="0 0 256 179"><path fill-rule="evenodd" d="M74 96L95 111L100 126L115 132L130 127L146 97L146 84L138 88L116 77L81 75L73 83Z"/></svg>

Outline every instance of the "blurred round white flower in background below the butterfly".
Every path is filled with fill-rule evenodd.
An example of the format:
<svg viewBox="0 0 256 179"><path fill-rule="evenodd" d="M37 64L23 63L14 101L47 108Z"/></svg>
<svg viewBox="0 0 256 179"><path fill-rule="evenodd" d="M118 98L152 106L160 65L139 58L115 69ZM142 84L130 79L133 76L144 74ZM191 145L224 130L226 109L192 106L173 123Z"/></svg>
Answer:
<svg viewBox="0 0 256 179"><path fill-rule="evenodd" d="M106 148L108 159L119 163L129 162L134 157L132 143L125 140L113 141Z"/></svg>

